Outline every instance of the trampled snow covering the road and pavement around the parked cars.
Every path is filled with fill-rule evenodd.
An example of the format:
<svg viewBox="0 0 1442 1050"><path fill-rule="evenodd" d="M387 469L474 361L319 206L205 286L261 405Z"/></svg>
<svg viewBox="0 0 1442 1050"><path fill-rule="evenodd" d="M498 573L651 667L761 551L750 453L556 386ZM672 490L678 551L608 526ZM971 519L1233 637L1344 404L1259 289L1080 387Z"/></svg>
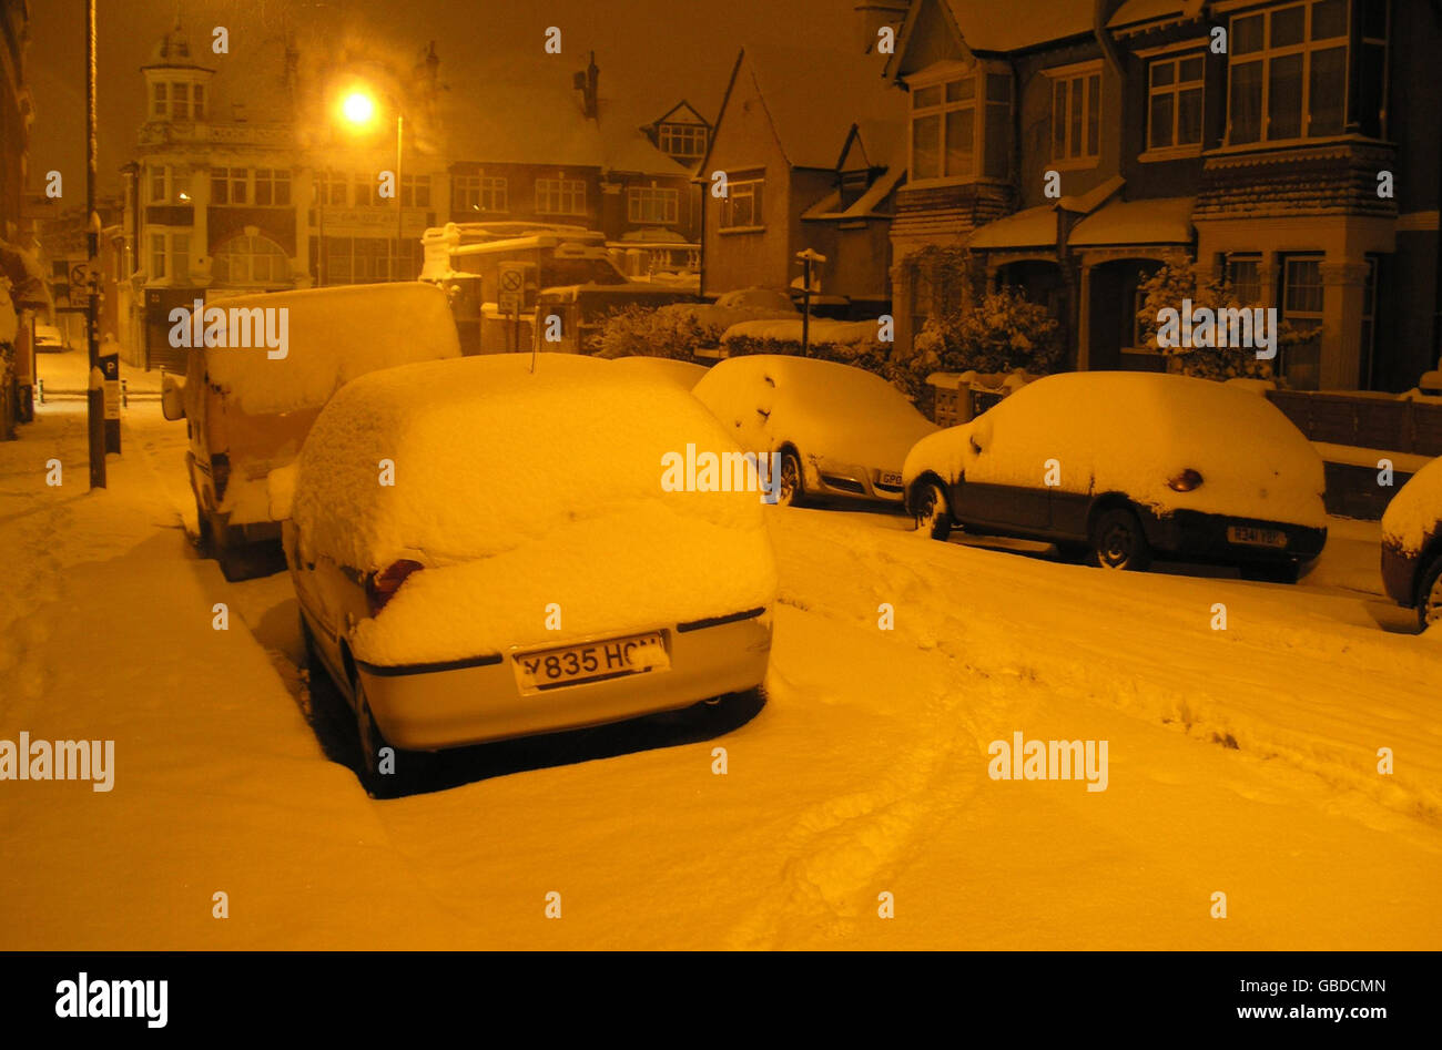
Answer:
<svg viewBox="0 0 1442 1050"><path fill-rule="evenodd" d="M20 436L0 738L114 740L115 770L0 782L0 948L1442 943L1442 645L1381 594L1376 524L1285 587L766 508L764 705L464 749L378 802L286 574L196 557L183 424L134 400L95 493L82 401ZM1106 790L992 779L1017 733L1107 741Z"/></svg>

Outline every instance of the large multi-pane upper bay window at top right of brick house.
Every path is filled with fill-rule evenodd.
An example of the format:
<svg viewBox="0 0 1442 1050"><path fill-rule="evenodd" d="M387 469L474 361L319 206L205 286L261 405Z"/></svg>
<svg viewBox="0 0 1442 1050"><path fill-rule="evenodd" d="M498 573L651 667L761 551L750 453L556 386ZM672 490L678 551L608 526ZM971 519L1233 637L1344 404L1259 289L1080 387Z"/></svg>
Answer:
<svg viewBox="0 0 1442 1050"><path fill-rule="evenodd" d="M1347 121L1348 7L1348 0L1312 0L1231 19L1229 143L1341 134ZM1376 52L1379 43L1384 55L1384 42L1370 46ZM1379 75L1379 111L1380 82Z"/></svg>

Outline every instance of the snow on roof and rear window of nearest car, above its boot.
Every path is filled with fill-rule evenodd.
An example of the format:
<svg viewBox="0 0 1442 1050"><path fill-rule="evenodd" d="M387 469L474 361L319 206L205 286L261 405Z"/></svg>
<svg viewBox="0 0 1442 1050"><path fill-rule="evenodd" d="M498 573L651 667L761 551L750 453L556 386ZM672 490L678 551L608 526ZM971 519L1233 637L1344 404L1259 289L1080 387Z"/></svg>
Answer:
<svg viewBox="0 0 1442 1050"><path fill-rule="evenodd" d="M300 456L304 541L373 568L492 557L607 513L760 526L756 492L665 492L662 460L737 446L689 394L610 361L483 355L372 372L322 411ZM395 485L376 482L394 463Z"/></svg>

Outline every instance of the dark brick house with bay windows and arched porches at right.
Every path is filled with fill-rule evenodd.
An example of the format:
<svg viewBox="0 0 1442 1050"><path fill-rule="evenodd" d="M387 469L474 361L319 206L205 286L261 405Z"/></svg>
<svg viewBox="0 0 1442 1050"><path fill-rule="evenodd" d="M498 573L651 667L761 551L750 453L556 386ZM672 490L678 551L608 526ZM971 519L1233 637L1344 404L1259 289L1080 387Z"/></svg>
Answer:
<svg viewBox="0 0 1442 1050"><path fill-rule="evenodd" d="M1318 329L1278 359L1295 388L1415 385L1439 338L1439 43L1428 3L914 0L887 68L911 100L898 339L962 299L926 248L963 248L966 280L1051 306L1073 366L1159 369L1136 288L1185 251Z"/></svg>

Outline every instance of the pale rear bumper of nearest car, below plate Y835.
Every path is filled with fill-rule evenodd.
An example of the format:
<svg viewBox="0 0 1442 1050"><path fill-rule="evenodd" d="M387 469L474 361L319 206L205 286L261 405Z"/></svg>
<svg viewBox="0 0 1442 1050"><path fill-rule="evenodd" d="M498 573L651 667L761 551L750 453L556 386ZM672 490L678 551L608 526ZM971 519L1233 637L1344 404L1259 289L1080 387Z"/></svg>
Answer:
<svg viewBox="0 0 1442 1050"><path fill-rule="evenodd" d="M756 688L766 678L770 610L691 630L668 626L660 633L668 669L542 692L521 691L515 652L467 666L358 663L358 671L385 737L397 747L428 751L689 707Z"/></svg>

